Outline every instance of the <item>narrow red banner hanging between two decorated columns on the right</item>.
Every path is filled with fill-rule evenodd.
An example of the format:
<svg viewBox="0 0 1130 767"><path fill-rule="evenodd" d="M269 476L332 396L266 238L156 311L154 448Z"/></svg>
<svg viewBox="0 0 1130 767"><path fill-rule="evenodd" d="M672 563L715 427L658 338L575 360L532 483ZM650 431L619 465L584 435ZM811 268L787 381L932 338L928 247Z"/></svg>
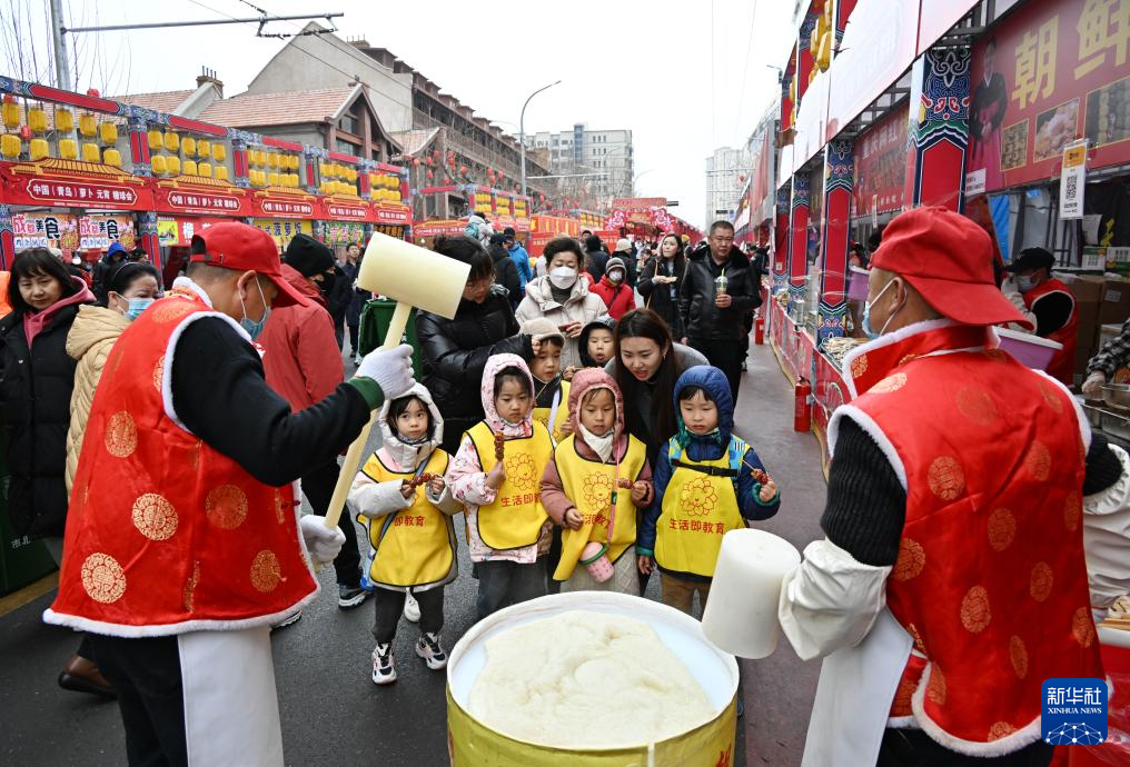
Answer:
<svg viewBox="0 0 1130 767"><path fill-rule="evenodd" d="M906 188L906 105L901 104L855 141L855 216L903 207Z"/></svg>

